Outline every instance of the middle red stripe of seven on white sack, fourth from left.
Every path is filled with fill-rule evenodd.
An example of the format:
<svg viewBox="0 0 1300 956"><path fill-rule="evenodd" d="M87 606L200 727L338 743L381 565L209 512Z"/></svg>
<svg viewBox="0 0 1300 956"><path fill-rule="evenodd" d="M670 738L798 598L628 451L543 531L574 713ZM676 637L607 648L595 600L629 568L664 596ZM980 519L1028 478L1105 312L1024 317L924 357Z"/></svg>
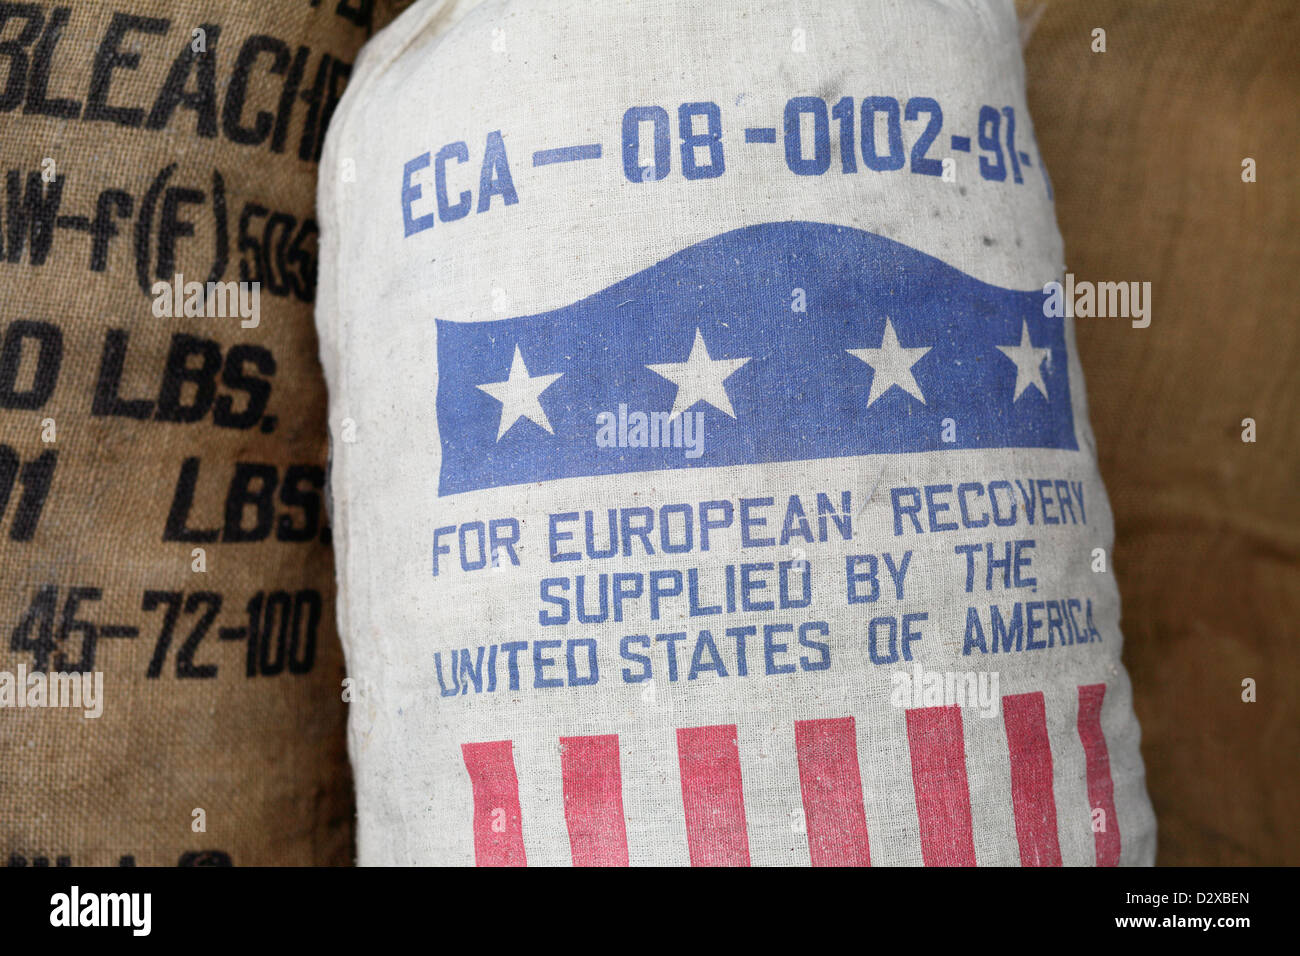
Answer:
<svg viewBox="0 0 1300 956"><path fill-rule="evenodd" d="M794 749L812 865L870 866L853 718L796 721Z"/></svg>

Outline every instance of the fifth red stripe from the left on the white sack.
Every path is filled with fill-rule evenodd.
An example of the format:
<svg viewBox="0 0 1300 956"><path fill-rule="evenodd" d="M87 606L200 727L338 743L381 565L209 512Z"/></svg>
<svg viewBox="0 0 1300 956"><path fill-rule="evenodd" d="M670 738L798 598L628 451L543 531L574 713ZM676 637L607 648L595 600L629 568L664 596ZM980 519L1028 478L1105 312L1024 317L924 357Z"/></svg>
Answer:
<svg viewBox="0 0 1300 956"><path fill-rule="evenodd" d="M911 783L920 821L920 858L926 866L974 866L971 792L966 782L962 711L913 708L907 711Z"/></svg>

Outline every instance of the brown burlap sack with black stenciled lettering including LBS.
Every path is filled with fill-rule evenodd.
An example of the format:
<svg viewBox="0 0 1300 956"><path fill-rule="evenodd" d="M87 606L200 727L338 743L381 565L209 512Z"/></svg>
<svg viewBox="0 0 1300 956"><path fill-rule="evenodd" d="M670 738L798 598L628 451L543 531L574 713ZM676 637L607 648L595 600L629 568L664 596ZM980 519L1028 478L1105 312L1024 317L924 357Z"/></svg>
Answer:
<svg viewBox="0 0 1300 956"><path fill-rule="evenodd" d="M12 864L351 861L313 189L372 13L0 4Z"/></svg>

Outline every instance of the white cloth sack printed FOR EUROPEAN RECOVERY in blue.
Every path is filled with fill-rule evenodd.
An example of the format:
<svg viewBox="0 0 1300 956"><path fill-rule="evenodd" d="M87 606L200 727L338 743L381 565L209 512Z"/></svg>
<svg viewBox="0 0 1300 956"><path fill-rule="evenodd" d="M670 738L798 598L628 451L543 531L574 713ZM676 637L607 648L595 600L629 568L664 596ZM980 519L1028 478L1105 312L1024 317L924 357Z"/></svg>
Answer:
<svg viewBox="0 0 1300 956"><path fill-rule="evenodd" d="M318 208L360 862L1152 861L1010 0L426 0Z"/></svg>

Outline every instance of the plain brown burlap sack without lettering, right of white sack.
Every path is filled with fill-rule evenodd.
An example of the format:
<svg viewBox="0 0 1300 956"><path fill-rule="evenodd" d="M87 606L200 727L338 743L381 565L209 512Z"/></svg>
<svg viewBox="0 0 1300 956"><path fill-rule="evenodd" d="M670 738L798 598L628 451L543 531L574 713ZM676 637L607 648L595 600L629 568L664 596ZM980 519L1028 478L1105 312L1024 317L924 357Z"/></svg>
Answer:
<svg viewBox="0 0 1300 956"><path fill-rule="evenodd" d="M1148 328L1079 319L1076 329L1115 509L1158 860L1294 865L1300 9L1022 8L1036 20L1030 105L1067 268L1152 284ZM1254 704L1243 701L1248 678Z"/></svg>

